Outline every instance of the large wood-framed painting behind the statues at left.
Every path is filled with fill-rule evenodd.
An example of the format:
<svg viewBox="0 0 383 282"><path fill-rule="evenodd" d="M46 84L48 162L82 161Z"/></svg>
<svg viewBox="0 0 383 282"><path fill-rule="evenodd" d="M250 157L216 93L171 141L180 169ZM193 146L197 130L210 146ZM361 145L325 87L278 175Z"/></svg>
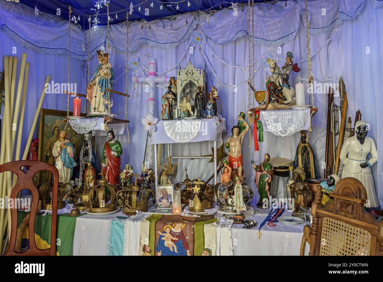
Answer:
<svg viewBox="0 0 383 282"><path fill-rule="evenodd" d="M71 115L71 112L69 113ZM81 114L85 117L85 114ZM56 166L56 158L52 154L54 143L57 141L61 130L65 129L67 124L64 119L67 117L67 112L64 110L40 110L40 129L39 129L39 152L38 160L41 162L50 163ZM73 144L75 153L74 160L77 162L79 158L80 146L82 145L83 135L75 132L72 127L68 124L66 131L68 132L69 141ZM72 179L75 176L75 169L73 170ZM38 183L51 182L52 173L42 171L38 173Z"/></svg>

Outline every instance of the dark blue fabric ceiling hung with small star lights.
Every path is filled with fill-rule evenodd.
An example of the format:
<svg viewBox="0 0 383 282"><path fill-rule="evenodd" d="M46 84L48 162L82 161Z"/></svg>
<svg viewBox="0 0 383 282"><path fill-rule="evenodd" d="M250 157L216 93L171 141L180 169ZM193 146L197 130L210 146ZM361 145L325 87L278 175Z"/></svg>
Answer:
<svg viewBox="0 0 383 282"><path fill-rule="evenodd" d="M106 25L108 16L107 8L105 7L103 0L99 0L101 2L102 8L99 10L98 20L100 21L99 25ZM109 14L110 17L113 18L113 21L110 21L110 24L120 23L126 21L126 9L129 8L130 3L133 2L133 15L129 14L129 21L136 21L144 19L146 21L156 20L158 18L163 18L165 16L171 15L179 15L187 12L194 11L205 11L210 8L212 10L221 10L221 8L231 7L230 0L184 0L183 2L178 3L178 10L176 10L177 4L174 3L177 0L110 0L109 4ZM61 17L68 20L69 16L69 5L72 7L72 15L78 17L80 15L80 21L78 22L81 28L88 29L88 15L93 15L97 12L97 7L95 0L20 0L20 3L27 5L34 9L36 6L40 12L49 13L52 15L57 15L57 9L61 11ZM138 5L142 2L145 2L141 5L141 11L138 11ZM151 7L151 3L153 2L153 7ZM173 3L169 3L173 2ZM190 7L188 7L188 2L190 3ZM228 2L228 3L223 3ZM247 0L236 0L233 1L238 4L246 4ZM265 3L271 2L271 0L254 0L254 3ZM160 6L162 4L162 10ZM145 15L145 9L149 9L149 15ZM125 11L122 11L125 10ZM119 12L120 11L120 12ZM117 19L115 18L117 12Z"/></svg>

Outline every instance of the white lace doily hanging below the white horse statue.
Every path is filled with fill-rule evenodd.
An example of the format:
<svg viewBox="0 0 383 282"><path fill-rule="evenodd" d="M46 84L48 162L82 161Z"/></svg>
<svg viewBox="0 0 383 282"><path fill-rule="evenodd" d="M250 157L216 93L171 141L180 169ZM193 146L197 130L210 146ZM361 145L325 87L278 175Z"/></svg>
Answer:
<svg viewBox="0 0 383 282"><path fill-rule="evenodd" d="M299 132L307 121L306 109L262 110L260 119L275 135L290 136Z"/></svg>

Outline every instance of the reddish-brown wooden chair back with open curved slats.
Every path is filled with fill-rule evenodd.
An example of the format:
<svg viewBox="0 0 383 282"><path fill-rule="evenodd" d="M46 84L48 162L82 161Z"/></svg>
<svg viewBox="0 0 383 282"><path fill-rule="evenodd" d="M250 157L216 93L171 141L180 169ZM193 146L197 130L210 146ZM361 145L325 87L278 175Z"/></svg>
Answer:
<svg viewBox="0 0 383 282"><path fill-rule="evenodd" d="M26 167L26 170L23 170L23 167ZM39 210L39 191L33 182L33 176L42 170L47 170L53 175L53 188L52 188L52 228L51 228L51 248L40 250L36 247L36 241L34 239L34 222L36 219L36 214ZM28 189L32 193L32 205L31 211L29 212L29 249L26 252L20 253L16 248L16 241L21 240L19 234L18 240L16 237L18 235L17 229L17 218L18 218L18 209L17 206L11 207L11 234L9 239L8 251L4 256L56 256L56 231L57 231L57 198L59 190L59 171L56 167L49 163L31 161L31 160L21 160L16 162L9 162L3 165L0 165L1 172L13 172L17 176L18 180L13 188L10 198L17 199L18 193L23 189ZM20 232L19 232L20 233Z"/></svg>

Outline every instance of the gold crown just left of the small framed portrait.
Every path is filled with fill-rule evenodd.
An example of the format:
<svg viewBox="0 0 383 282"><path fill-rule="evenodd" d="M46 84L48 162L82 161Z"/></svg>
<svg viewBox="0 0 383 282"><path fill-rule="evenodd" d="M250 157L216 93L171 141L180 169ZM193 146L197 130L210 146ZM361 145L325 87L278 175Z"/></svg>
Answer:
<svg viewBox="0 0 383 282"><path fill-rule="evenodd" d="M123 203L123 213L126 215L134 215L137 211L148 211L147 199L150 193L155 197L155 192L152 189L140 189L137 185L137 177L139 175L133 175L136 177L135 184L131 187L119 190L116 194L116 200Z"/></svg>

